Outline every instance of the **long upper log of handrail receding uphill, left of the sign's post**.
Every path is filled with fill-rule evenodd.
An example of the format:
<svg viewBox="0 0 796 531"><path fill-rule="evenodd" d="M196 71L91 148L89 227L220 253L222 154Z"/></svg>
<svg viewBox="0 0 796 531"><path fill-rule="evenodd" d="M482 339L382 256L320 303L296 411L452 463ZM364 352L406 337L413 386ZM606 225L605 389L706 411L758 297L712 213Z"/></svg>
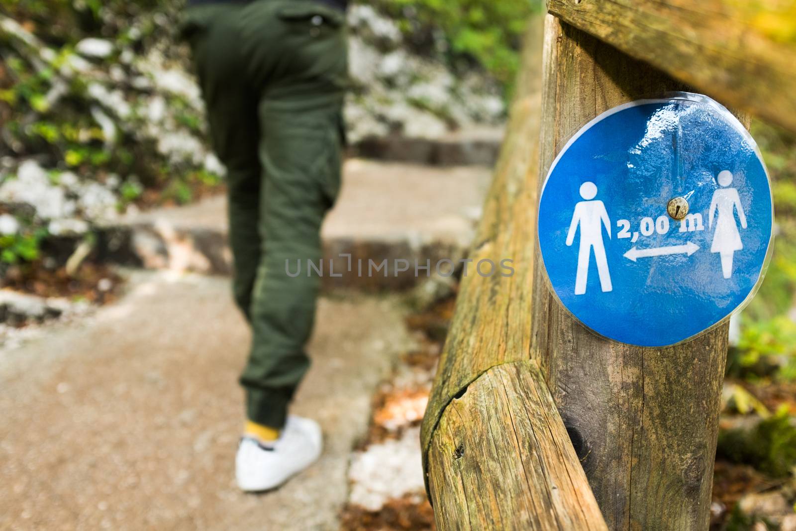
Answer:
<svg viewBox="0 0 796 531"><path fill-rule="evenodd" d="M423 419L426 451L447 404L494 365L527 360L531 343L531 289L535 261L542 24L537 17L525 39L525 52L509 126L481 221L470 251L469 274L462 278L454 318ZM479 260L513 260L510 277L482 277Z"/></svg>

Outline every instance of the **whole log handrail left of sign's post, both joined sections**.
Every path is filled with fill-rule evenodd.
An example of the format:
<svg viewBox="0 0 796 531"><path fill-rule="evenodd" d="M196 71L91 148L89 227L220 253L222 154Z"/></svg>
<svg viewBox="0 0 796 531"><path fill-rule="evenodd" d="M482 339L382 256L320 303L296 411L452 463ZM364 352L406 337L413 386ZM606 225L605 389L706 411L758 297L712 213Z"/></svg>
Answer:
<svg viewBox="0 0 796 531"><path fill-rule="evenodd" d="M473 264L423 419L439 529L607 529L537 364L529 360L539 183L540 18L526 41L509 129ZM479 260L513 260L483 277Z"/></svg>

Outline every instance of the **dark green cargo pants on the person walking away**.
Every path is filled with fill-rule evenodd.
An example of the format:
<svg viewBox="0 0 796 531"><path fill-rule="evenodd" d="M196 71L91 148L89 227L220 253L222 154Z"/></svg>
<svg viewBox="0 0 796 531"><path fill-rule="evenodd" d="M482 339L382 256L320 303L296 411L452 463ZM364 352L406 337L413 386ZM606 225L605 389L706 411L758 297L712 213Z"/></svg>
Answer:
<svg viewBox="0 0 796 531"><path fill-rule="evenodd" d="M181 33L228 172L233 290L252 327L248 419L282 428L310 365L320 279L306 260L321 259L340 188L345 14L314 0L210 3L189 8Z"/></svg>

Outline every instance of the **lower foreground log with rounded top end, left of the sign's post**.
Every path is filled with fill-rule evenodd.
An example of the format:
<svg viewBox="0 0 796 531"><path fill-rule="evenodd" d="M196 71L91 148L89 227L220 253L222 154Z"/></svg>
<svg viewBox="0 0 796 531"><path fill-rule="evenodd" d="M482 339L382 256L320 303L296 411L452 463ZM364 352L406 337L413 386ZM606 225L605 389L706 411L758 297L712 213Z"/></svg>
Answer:
<svg viewBox="0 0 796 531"><path fill-rule="evenodd" d="M607 531L533 361L493 367L453 400L428 462L440 531Z"/></svg>

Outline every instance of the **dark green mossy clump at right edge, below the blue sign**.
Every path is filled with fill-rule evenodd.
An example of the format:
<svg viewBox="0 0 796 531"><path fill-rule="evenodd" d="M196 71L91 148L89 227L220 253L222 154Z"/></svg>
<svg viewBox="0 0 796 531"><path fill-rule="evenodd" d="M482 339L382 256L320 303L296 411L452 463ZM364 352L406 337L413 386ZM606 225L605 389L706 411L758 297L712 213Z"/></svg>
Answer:
<svg viewBox="0 0 796 531"><path fill-rule="evenodd" d="M754 428L719 433L716 455L731 463L751 464L774 477L786 477L796 467L796 427L786 407Z"/></svg>

